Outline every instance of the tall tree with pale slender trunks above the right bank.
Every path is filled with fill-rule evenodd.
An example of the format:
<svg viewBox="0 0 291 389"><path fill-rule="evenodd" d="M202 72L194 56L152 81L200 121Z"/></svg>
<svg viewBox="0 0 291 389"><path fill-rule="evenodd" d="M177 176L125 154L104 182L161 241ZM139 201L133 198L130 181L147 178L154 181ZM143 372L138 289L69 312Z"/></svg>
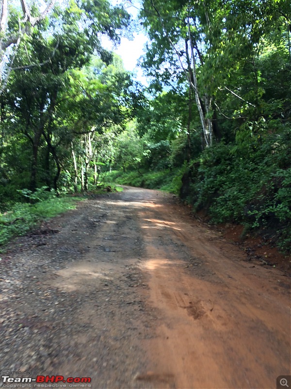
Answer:
<svg viewBox="0 0 291 389"><path fill-rule="evenodd" d="M259 87L249 101L229 88L230 74L249 60L258 81L256 61L261 41L290 20L286 6L285 0L265 0L264 6L253 0L143 1L141 17L151 40L144 67L167 85L187 80L195 97L204 146L221 137L217 125L218 112L222 112L217 101L221 91L224 98L230 93L247 108L259 106ZM189 96L191 107L191 91Z"/></svg>

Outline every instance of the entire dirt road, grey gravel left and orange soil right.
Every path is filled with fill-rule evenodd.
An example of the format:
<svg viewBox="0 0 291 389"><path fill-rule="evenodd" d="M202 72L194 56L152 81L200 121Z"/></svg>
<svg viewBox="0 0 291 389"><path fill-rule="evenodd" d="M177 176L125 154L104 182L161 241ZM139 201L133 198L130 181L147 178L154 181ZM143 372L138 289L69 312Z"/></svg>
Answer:
<svg viewBox="0 0 291 389"><path fill-rule="evenodd" d="M1 258L0 369L14 376L202 389L291 374L289 278L246 262L171 195L92 198Z"/></svg>

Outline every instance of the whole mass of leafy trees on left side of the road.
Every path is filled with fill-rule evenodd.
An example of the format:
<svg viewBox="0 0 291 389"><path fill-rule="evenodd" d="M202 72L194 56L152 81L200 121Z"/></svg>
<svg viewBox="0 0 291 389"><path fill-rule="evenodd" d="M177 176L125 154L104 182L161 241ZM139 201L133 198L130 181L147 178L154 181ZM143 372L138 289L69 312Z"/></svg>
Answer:
<svg viewBox="0 0 291 389"><path fill-rule="evenodd" d="M22 38L0 96L2 203L19 200L17 189L43 185L87 190L92 166L97 179L97 164L134 99L129 74L99 35L118 41L128 21L106 0L70 1Z"/></svg>

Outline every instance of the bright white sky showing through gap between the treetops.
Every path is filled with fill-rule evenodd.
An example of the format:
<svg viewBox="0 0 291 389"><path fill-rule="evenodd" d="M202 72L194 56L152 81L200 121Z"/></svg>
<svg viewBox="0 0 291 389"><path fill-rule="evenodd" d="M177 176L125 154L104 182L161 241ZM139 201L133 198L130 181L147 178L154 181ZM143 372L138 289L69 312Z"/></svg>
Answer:
<svg viewBox="0 0 291 389"><path fill-rule="evenodd" d="M120 3L120 1L111 0L113 5ZM128 13L133 17L137 18L140 4L139 0L122 1ZM146 77L143 75L143 70L137 67L137 61L141 55L145 53L145 44L147 37L142 31L133 33L133 40L122 37L121 43L117 48L114 48L112 43L108 39L102 39L103 45L108 50L113 50L121 56L124 62L125 69L132 71L135 75L135 79L140 81L142 84L147 85Z"/></svg>

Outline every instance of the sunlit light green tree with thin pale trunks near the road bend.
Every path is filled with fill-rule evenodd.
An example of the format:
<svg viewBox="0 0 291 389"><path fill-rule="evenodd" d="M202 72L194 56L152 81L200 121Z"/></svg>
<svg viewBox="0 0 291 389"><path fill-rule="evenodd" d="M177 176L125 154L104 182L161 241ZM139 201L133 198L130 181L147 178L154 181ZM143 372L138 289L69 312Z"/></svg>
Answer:
<svg viewBox="0 0 291 389"><path fill-rule="evenodd" d="M61 112L71 134L81 141L81 147L80 141L72 145L75 186L78 172L81 172L81 188L86 191L89 168L94 167L97 184L98 166L113 163L114 138L125 129L136 99L132 85L129 73L116 55L108 66L93 57L81 71L71 72L69 90L74 97L64 100Z"/></svg>

